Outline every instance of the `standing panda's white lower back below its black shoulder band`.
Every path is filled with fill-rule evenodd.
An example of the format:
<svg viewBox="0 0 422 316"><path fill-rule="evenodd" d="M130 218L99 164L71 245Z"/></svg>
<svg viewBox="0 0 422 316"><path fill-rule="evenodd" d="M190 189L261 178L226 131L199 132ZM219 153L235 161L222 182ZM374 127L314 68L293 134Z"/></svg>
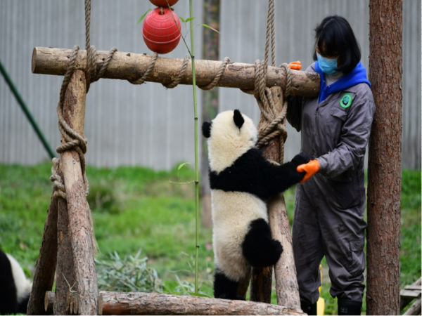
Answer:
<svg viewBox="0 0 422 316"><path fill-rule="evenodd" d="M215 264L238 281L249 268L242 254L243 239L252 220L268 223L267 206L255 195L222 190L211 191L211 202Z"/></svg>

